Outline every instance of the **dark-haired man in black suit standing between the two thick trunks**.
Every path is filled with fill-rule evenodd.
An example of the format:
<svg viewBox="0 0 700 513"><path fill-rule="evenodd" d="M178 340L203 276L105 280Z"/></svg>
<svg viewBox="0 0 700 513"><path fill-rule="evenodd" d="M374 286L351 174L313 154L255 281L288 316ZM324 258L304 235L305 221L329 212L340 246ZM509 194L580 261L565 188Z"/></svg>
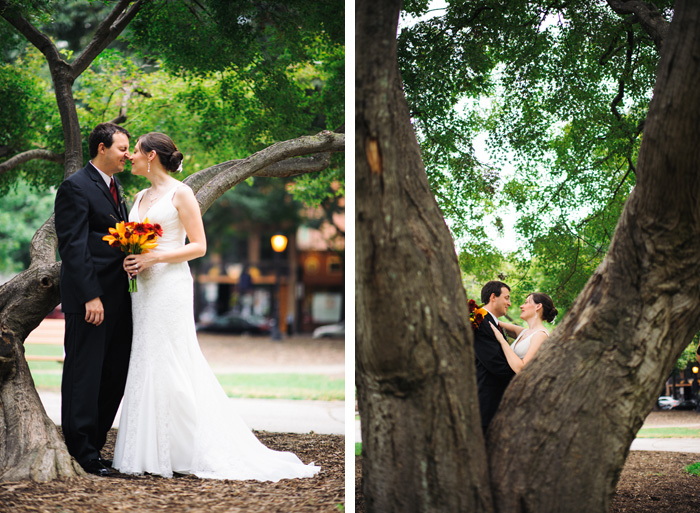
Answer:
<svg viewBox="0 0 700 513"><path fill-rule="evenodd" d="M503 332L498 325L498 318L505 315L510 306L510 287L500 281L488 282L481 289L481 302L488 314L474 331L474 356L481 427L486 433L503 393L515 375L489 323L490 321Z"/></svg>

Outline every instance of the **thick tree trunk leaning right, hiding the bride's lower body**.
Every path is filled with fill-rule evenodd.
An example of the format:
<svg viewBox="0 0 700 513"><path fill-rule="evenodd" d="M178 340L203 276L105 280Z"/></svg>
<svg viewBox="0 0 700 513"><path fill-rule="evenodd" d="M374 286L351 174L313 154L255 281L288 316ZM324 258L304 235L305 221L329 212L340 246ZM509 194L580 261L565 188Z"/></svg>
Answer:
<svg viewBox="0 0 700 513"><path fill-rule="evenodd" d="M700 328L698 55L700 3L679 1L610 249L489 429L499 512L607 511L636 432Z"/></svg>

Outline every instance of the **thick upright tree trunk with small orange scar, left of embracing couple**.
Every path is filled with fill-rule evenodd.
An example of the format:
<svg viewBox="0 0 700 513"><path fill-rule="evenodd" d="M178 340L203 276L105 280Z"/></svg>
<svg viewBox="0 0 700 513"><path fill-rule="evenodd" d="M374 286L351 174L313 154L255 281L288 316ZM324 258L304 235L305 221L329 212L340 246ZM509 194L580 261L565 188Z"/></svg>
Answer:
<svg viewBox="0 0 700 513"><path fill-rule="evenodd" d="M356 4L356 385L367 511L492 511L472 333L396 61L401 2Z"/></svg>

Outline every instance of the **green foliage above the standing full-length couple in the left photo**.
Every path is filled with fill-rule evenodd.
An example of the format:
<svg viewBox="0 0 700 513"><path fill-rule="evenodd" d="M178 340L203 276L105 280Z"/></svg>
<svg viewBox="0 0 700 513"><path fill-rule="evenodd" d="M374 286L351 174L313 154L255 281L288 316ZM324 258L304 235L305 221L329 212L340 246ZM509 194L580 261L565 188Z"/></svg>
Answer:
<svg viewBox="0 0 700 513"><path fill-rule="evenodd" d="M9 3L58 41L71 62L115 2ZM148 2L74 85L84 135L115 119L133 135L166 132L193 172L278 140L335 130L344 116L342 12L338 1ZM0 107L0 192L18 176L56 185L63 134L48 69L5 20L0 42L0 88L8 98ZM2 168L30 149L46 151L56 164ZM315 190L318 180L325 188L316 188L331 191L327 184L342 179L342 159L334 159L325 175L304 179L306 189Z"/></svg>

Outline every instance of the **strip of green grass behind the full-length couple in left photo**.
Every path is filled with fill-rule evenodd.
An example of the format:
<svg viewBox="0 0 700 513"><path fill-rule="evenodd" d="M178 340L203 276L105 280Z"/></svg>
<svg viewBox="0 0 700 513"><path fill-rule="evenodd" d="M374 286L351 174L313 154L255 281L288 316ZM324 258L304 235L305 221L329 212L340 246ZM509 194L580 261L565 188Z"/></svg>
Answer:
<svg viewBox="0 0 700 513"><path fill-rule="evenodd" d="M28 355L61 356L61 346L27 344ZM63 365L58 362L30 361L29 369L37 388L61 388ZM319 374L218 374L217 379L229 397L255 399L306 399L342 401L345 379Z"/></svg>

